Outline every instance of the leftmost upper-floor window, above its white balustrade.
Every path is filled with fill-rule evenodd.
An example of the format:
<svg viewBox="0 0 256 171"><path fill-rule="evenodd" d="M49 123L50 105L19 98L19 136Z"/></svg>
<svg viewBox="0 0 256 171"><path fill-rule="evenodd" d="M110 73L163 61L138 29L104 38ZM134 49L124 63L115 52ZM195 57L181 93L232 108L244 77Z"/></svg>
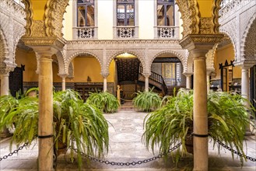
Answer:
<svg viewBox="0 0 256 171"><path fill-rule="evenodd" d="M77 26L94 26L94 0L77 1Z"/></svg>

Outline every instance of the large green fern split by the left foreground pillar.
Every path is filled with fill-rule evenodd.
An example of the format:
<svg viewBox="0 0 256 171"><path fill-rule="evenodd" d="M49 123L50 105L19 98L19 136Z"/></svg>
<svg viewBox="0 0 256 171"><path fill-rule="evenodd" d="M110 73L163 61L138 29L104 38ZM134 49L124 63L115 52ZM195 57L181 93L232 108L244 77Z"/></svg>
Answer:
<svg viewBox="0 0 256 171"><path fill-rule="evenodd" d="M15 125L12 142L31 145L38 132L38 98L23 96L16 99L11 96L0 97L9 99L10 103L1 105L0 129ZM108 124L103 113L88 103L84 103L78 92L66 90L54 92L54 152L70 147L70 156L74 159L74 148L77 149L79 169L82 166L81 152L87 155L103 157L108 152ZM9 108L12 107L12 110ZM2 110L4 109L4 110ZM12 143L11 142L11 143Z"/></svg>

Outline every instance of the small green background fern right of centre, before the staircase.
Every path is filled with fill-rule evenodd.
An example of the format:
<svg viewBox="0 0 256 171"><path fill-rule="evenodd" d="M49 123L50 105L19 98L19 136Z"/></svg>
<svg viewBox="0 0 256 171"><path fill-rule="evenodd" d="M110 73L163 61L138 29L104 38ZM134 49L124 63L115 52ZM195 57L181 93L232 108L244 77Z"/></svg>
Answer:
<svg viewBox="0 0 256 171"><path fill-rule="evenodd" d="M132 101L139 110L150 112L160 107L161 97L150 89L149 92L136 92L136 97Z"/></svg>

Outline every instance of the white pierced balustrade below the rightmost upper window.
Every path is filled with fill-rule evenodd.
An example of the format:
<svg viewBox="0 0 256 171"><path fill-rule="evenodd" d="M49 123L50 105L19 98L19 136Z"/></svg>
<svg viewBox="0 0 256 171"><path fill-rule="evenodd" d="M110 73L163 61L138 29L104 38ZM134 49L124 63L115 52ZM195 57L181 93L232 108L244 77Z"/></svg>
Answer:
<svg viewBox="0 0 256 171"><path fill-rule="evenodd" d="M179 27L178 26L157 26L158 38L178 38Z"/></svg>

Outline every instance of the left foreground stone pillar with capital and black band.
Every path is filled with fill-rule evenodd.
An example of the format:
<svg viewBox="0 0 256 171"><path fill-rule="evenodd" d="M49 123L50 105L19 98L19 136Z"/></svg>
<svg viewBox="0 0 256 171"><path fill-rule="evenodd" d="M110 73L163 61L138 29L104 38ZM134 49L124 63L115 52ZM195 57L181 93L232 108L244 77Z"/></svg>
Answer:
<svg viewBox="0 0 256 171"><path fill-rule="evenodd" d="M37 47L39 58L38 170L53 169L53 81L51 47Z"/></svg>

